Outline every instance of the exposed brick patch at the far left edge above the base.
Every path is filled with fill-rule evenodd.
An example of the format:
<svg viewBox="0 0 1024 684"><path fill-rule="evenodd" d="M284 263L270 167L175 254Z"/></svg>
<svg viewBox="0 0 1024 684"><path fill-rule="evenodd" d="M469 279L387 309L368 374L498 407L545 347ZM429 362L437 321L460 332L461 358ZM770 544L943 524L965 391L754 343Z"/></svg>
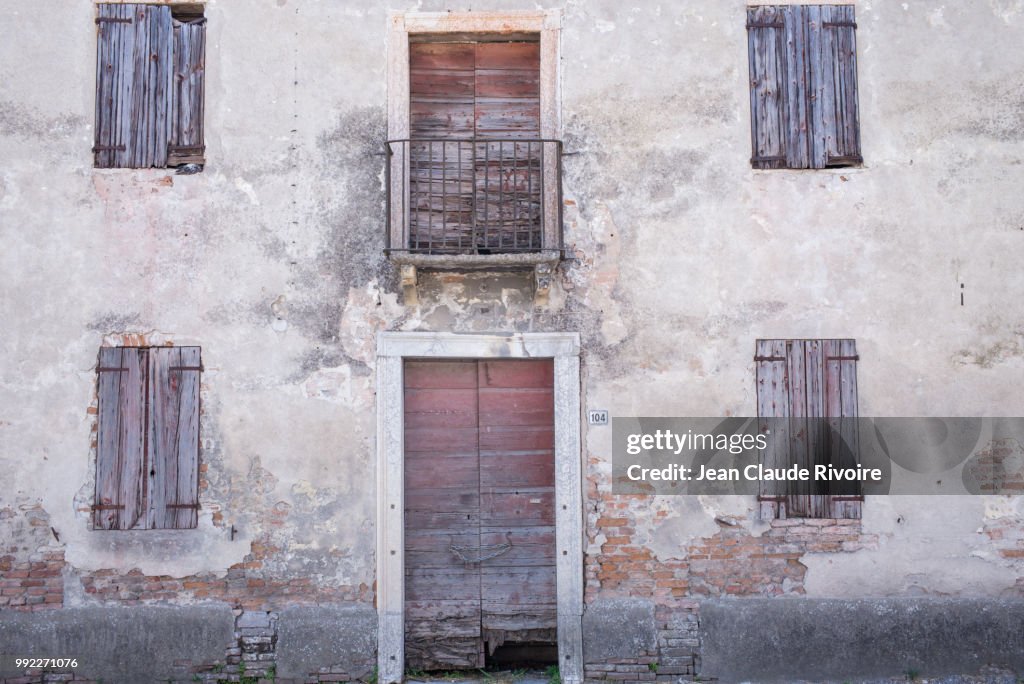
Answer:
<svg viewBox="0 0 1024 684"><path fill-rule="evenodd" d="M63 548L38 503L0 508L0 609L63 605Z"/></svg>

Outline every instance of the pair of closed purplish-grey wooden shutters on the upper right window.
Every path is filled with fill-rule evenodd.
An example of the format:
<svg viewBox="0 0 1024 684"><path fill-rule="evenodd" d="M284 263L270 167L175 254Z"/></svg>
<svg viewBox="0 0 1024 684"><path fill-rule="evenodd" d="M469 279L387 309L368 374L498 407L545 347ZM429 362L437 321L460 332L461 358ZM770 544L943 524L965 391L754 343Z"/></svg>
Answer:
<svg viewBox="0 0 1024 684"><path fill-rule="evenodd" d="M746 28L754 168L862 163L853 6L750 7Z"/></svg>

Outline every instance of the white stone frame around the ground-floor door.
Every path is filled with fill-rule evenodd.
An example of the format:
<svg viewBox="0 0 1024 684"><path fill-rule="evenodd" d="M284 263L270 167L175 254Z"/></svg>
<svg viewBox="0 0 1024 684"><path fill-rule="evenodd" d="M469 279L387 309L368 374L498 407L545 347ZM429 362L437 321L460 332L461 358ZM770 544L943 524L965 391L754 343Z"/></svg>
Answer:
<svg viewBox="0 0 1024 684"><path fill-rule="evenodd" d="M583 456L578 333L377 335L377 664L381 684L406 671L404 390L407 358L552 358L555 398L555 587L558 667L583 681Z"/></svg>

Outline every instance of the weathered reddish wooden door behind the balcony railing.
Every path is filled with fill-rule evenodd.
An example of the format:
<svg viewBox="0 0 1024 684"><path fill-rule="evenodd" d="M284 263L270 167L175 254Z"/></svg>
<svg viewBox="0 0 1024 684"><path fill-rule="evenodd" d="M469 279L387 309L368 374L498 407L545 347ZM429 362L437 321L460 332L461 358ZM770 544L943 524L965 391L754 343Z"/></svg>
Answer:
<svg viewBox="0 0 1024 684"><path fill-rule="evenodd" d="M410 248L539 250L545 182L539 37L429 38L409 46Z"/></svg>

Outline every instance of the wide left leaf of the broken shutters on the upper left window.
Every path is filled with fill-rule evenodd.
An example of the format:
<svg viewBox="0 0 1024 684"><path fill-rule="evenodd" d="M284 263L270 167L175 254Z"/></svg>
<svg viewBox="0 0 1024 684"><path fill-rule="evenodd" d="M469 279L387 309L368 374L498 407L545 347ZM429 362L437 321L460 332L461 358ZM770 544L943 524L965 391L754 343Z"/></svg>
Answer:
<svg viewBox="0 0 1024 684"><path fill-rule="evenodd" d="M97 11L94 164L167 166L170 7L100 4Z"/></svg>

